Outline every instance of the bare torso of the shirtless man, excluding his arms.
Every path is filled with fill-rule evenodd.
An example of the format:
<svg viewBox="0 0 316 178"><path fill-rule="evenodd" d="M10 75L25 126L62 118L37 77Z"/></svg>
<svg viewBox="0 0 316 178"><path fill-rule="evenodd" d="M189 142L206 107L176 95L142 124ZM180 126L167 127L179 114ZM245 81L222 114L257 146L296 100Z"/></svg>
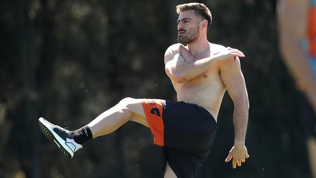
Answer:
<svg viewBox="0 0 316 178"><path fill-rule="evenodd" d="M223 46L210 43L210 49L208 52L197 54L195 59L210 57L223 49ZM179 84L172 81L172 83L176 90L178 101L204 107L217 121L219 108L226 91L217 63L190 81Z"/></svg>

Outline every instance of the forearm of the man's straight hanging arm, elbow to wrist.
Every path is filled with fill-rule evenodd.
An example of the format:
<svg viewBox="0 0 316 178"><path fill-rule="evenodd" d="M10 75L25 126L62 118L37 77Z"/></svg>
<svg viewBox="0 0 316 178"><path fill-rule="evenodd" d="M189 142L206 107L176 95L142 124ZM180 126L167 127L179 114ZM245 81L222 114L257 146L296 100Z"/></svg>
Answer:
<svg viewBox="0 0 316 178"><path fill-rule="evenodd" d="M235 127L235 144L245 144L246 130L248 124L248 100L243 104L235 104L234 109L234 127Z"/></svg>

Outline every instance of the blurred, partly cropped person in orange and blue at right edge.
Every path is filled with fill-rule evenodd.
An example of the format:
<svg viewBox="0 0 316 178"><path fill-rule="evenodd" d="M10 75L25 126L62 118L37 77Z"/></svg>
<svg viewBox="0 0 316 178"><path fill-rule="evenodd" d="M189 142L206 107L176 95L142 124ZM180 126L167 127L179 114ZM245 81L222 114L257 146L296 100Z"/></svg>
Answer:
<svg viewBox="0 0 316 178"><path fill-rule="evenodd" d="M306 134L310 169L316 178L316 0L279 0L283 60L306 98L300 119Z"/></svg>

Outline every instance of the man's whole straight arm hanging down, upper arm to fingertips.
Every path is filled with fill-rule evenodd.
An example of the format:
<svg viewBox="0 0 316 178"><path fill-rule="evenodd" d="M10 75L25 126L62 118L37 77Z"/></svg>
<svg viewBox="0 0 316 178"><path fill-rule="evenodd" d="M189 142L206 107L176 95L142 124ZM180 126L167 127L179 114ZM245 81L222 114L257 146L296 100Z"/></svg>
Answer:
<svg viewBox="0 0 316 178"><path fill-rule="evenodd" d="M238 57L236 60L231 57L220 62L218 67L222 81L234 102L235 142L225 161L228 162L233 159L232 166L236 168L236 164L241 166L241 163L249 157L245 146L249 109L248 94Z"/></svg>

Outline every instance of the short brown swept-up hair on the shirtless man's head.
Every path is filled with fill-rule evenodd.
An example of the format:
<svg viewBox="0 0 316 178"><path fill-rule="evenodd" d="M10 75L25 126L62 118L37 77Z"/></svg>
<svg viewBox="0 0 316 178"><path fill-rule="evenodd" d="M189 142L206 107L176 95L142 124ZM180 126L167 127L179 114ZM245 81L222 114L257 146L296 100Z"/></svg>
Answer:
<svg viewBox="0 0 316 178"><path fill-rule="evenodd" d="M194 10L196 15L199 15L202 18L205 18L206 20L208 20L208 30L209 30L211 26L211 22L212 22L212 15L209 8L207 8L204 4L196 3L196 2L187 3L187 4L179 4L176 6L177 14L180 14L181 12L187 11L187 10Z"/></svg>

